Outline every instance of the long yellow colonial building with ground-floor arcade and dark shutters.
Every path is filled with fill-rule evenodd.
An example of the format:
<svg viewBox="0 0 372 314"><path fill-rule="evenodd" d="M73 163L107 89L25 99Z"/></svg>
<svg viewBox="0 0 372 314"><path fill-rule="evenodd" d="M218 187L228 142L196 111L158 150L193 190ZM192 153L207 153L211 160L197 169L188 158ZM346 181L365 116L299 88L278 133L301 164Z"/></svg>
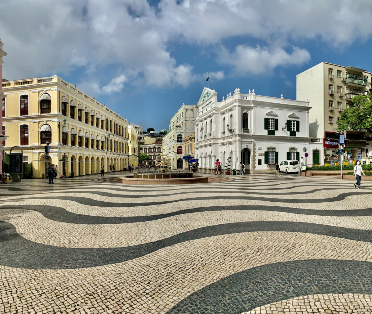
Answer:
<svg viewBox="0 0 372 314"><path fill-rule="evenodd" d="M70 176L99 173L101 166L117 171L135 164L128 142L128 121L58 76L2 83L5 151L23 149L33 177L43 178L48 162ZM129 129L131 129L129 127ZM49 142L49 159L44 146ZM132 140L132 143L134 141ZM137 138L135 140L137 143ZM62 162L66 156L66 163ZM138 153L137 153L138 155ZM138 158L135 160L138 160Z"/></svg>

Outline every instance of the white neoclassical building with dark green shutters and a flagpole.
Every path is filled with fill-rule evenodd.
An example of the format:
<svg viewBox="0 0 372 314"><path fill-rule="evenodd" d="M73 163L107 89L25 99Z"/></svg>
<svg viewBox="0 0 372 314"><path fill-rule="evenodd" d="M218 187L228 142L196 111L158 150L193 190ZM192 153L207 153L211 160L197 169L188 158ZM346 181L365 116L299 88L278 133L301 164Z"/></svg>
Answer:
<svg viewBox="0 0 372 314"><path fill-rule="evenodd" d="M275 163L304 158L308 165L323 160L322 143L309 137L308 101L217 92L204 88L195 121L195 158L199 171L212 172L217 159L231 169L243 162L246 173L272 170ZM319 142L318 142L319 141ZM306 157L305 153L308 154Z"/></svg>

